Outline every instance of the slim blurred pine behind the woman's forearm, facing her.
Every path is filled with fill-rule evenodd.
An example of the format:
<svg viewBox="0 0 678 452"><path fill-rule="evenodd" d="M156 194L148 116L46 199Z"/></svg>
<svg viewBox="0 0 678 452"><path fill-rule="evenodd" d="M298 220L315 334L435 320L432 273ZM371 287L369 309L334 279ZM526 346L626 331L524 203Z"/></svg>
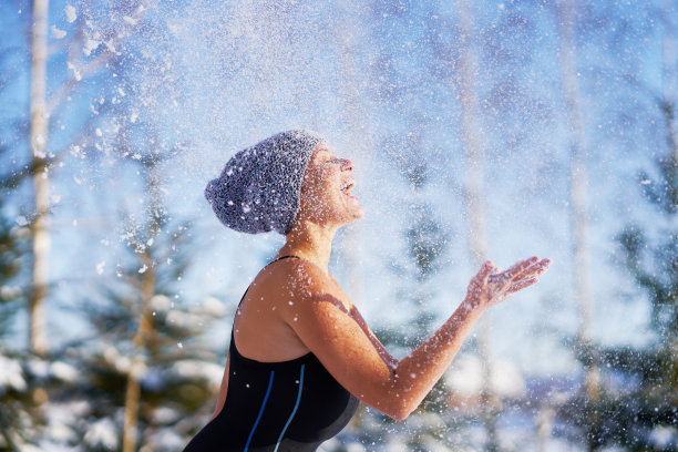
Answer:
<svg viewBox="0 0 678 452"><path fill-rule="evenodd" d="M405 329L379 327L376 335L387 347L412 350L433 333L436 316L431 311L432 279L440 269L440 259L448 248L449 233L444 230L435 212L427 199L430 168L422 143L425 120L414 116L415 124L404 137L392 138L382 146L390 153L389 161L405 179L411 195L408 203L409 219L405 222L403 238L404 259L396 261L393 270L405 285L397 289L399 302L408 302L414 315ZM443 417L449 411L449 391L444 378L440 379L423 400L420 408L407 421L402 442L410 450L423 451L430 443L446 442L446 424ZM384 419L387 424L390 421Z"/></svg>

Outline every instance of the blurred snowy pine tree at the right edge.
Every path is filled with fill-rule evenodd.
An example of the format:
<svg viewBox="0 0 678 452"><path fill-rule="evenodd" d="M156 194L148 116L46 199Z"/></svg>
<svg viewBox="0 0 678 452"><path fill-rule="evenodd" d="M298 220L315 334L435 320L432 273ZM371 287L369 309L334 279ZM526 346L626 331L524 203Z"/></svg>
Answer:
<svg viewBox="0 0 678 452"><path fill-rule="evenodd" d="M665 109L672 112L672 105ZM647 435L653 429L678 427L678 148L655 165L657 176L641 172L639 179L659 227L650 232L629 225L619 242L626 268L650 301L656 340L643 350L606 353L612 364L640 380L619 419L624 430L640 432L624 438L637 450L656 446ZM678 434L671 444L666 450L678 450Z"/></svg>

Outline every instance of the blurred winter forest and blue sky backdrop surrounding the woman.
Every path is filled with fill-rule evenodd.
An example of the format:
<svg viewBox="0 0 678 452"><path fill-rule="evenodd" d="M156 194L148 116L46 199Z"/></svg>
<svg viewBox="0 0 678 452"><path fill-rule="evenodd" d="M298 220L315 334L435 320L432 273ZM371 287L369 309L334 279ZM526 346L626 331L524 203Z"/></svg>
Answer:
<svg viewBox="0 0 678 452"><path fill-rule="evenodd" d="M0 450L178 451L282 237L203 198L311 129L331 270L405 356L486 258L551 257L407 421L325 451L678 450L675 0L0 2Z"/></svg>

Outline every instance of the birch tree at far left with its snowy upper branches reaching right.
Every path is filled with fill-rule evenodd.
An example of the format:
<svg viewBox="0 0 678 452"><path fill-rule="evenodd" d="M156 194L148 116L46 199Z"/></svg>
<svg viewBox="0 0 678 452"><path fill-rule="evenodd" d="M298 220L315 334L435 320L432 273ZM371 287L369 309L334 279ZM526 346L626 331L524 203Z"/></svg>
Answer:
<svg viewBox="0 0 678 452"><path fill-rule="evenodd" d="M48 296L50 284L49 276L49 254L50 254L50 171L55 168L54 162L63 160L65 150L70 148L73 142L56 148L56 140L51 136L50 121L59 122L60 109L63 102L70 100L73 91L86 92L86 84L83 79L101 76L114 70L124 60L122 52L116 51L137 27L142 23L143 13L148 9L148 1L141 0L136 9L131 4L119 7L124 12L129 12L126 20L122 20L122 25L109 23L106 27L93 30L93 24L85 18L78 18L75 9L72 7L66 16L69 22L75 22L75 32L58 45L56 54L69 53L66 65L60 64L62 70L69 70L71 74L61 84L55 84L48 80L48 66L54 53L50 52L48 40L48 16L49 0L33 0L31 8L31 32L30 32L30 119L29 119L29 151L34 167L33 174L33 208L34 218L31 227L32 236L32 267L33 267L33 289L29 297L29 348L35 355L44 356L48 351L48 333L44 314L44 302ZM83 9L90 7L89 2L79 4ZM131 11L126 11L126 10ZM113 17L113 16L112 16ZM66 33L52 27L52 38L62 39ZM96 37L97 39L93 39ZM101 45L105 40L105 45ZM101 49L100 49L101 48ZM105 48L105 50L104 50ZM80 51L82 50L82 52ZM82 55L86 55L86 61L82 61ZM55 59L54 59L55 60ZM48 91L50 96L48 97ZM93 115L101 121L99 111ZM89 130L86 124L82 131ZM75 134L75 140L80 138ZM73 137L71 137L72 140Z"/></svg>

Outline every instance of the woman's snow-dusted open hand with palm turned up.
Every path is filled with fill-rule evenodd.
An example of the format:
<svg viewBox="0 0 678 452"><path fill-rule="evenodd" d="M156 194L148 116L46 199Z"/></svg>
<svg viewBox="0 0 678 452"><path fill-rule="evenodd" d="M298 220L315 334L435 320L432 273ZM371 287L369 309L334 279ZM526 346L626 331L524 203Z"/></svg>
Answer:
<svg viewBox="0 0 678 452"><path fill-rule="evenodd" d="M551 259L540 260L535 256L500 273L500 268L487 260L471 279L464 305L470 310L485 310L499 305L515 292L537 282L549 265Z"/></svg>

